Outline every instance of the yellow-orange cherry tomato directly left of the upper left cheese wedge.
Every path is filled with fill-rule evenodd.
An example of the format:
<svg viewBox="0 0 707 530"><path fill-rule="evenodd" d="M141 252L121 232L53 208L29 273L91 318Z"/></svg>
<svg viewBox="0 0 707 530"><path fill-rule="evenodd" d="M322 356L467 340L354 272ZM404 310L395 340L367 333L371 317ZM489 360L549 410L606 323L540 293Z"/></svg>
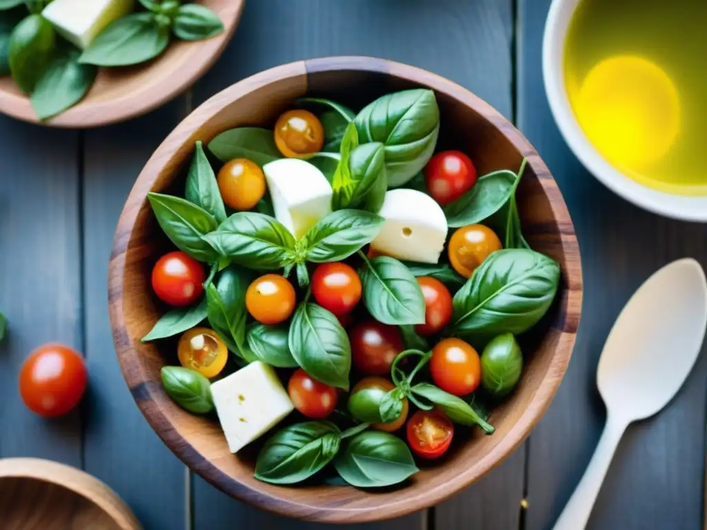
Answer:
<svg viewBox="0 0 707 530"><path fill-rule="evenodd" d="M265 194L265 175L247 158L235 158L218 172L218 191L234 210L250 210Z"/></svg>

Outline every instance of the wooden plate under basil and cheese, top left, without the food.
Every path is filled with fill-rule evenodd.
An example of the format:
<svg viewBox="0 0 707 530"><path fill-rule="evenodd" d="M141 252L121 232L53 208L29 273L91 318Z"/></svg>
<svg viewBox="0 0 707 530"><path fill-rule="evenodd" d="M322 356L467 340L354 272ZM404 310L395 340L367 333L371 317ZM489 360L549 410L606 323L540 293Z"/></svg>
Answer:
<svg viewBox="0 0 707 530"><path fill-rule="evenodd" d="M139 66L100 69L86 97L52 119L40 122L11 77L0 77L0 112L25 122L83 129L145 114L187 90L211 68L233 37L245 0L201 0L218 13L225 30L209 40L174 40L158 59Z"/></svg>

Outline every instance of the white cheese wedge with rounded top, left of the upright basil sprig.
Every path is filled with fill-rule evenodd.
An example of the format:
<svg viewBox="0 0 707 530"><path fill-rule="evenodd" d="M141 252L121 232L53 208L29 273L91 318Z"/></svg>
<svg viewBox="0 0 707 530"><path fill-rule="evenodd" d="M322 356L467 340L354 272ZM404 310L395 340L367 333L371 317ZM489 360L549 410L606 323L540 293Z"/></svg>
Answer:
<svg viewBox="0 0 707 530"><path fill-rule="evenodd" d="M281 158L263 166L275 218L295 239L332 213L332 185L318 167L299 158Z"/></svg>

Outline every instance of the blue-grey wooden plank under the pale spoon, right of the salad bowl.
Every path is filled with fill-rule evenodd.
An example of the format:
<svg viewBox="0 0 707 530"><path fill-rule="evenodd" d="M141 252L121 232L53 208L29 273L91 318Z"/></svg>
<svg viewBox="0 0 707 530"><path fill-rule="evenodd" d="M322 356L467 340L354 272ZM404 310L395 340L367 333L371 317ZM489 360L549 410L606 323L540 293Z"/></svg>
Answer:
<svg viewBox="0 0 707 530"><path fill-rule="evenodd" d="M528 449L527 530L551 529L594 452L605 409L596 389L604 340L631 294L680 257L707 266L707 227L659 218L605 189L568 151L542 84L549 0L520 1L520 129L556 177L575 221L585 271L583 322L573 361ZM588 529L687 530L701 526L707 358L703 351L664 411L629 428Z"/></svg>

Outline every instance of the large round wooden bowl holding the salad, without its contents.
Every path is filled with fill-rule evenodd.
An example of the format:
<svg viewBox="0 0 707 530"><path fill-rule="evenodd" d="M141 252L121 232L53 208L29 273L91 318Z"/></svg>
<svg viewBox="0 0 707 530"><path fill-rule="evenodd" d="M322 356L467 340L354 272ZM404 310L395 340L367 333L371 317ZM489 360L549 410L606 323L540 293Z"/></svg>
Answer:
<svg viewBox="0 0 707 530"><path fill-rule="evenodd" d="M352 107L383 93L411 87L435 90L442 134L438 147L468 153L480 174L518 170L530 161L518 199L525 235L559 261L561 290L542 326L525 338L527 366L518 389L491 416L496 433L472 431L448 458L423 466L404 488L363 491L348 486L282 487L253 478L257 451L228 452L213 420L183 411L160 384L160 368L175 364L171 348L141 343L163 308L150 286L150 271L165 238L146 201L147 192L180 193L197 140L206 143L233 126L271 126L306 93ZM572 221L550 172L518 130L464 88L432 73L380 59L332 57L286 64L223 90L192 112L162 143L141 172L120 217L110 264L110 318L125 379L148 422L191 469L228 495L291 517L365 522L397 517L434 505L476 481L508 457L530 433L554 396L570 359L580 317L582 275Z"/></svg>

